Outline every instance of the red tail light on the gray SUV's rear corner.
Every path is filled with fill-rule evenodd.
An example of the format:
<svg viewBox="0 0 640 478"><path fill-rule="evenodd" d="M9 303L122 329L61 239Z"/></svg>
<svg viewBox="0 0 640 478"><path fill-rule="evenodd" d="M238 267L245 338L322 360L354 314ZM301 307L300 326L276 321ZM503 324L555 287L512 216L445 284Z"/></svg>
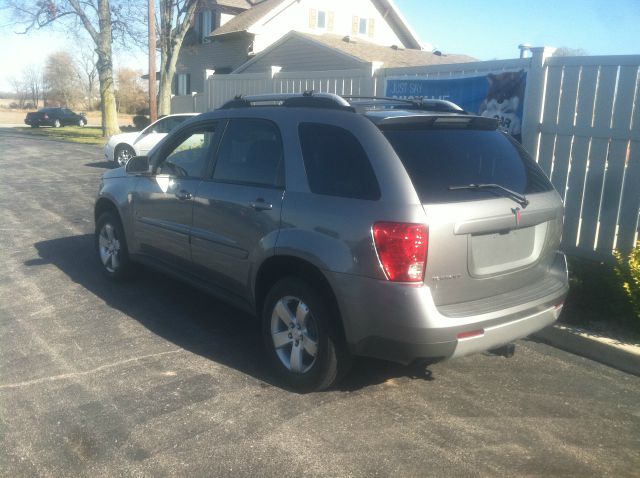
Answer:
<svg viewBox="0 0 640 478"><path fill-rule="evenodd" d="M427 262L429 229L424 224L377 222L373 240L387 279L422 282Z"/></svg>

